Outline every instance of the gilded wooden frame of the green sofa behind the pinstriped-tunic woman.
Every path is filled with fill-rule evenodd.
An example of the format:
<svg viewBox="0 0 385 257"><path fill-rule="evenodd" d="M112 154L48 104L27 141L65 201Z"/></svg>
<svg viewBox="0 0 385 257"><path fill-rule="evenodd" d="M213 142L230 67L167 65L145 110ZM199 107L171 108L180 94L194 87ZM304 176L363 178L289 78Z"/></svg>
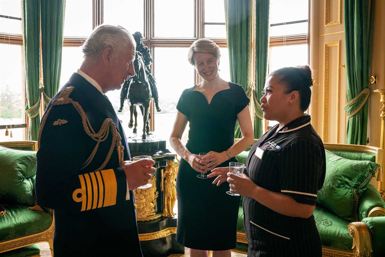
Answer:
<svg viewBox="0 0 385 257"><path fill-rule="evenodd" d="M234 142L239 139L234 139ZM256 139L254 139L254 142ZM375 155L376 163L382 165L383 160L383 149L375 146L363 146L356 144L332 144L324 143L325 149L327 150L341 150L341 151L352 151L357 153L370 153ZM382 168L382 167L381 167ZM380 171L379 171L380 172ZM378 188L377 188L378 189ZM369 211L368 217L379 217L385 216L385 209L381 207L374 207ZM355 257L355 256L370 256L372 250L370 232L363 222L352 222L348 225L349 234L353 237L353 253L344 252L340 250L331 249L328 247L322 247L322 256L323 257ZM237 232L237 241L240 243L247 244L246 234L242 232ZM234 250L233 250L234 251ZM236 251L241 252L241 251ZM246 253L246 252L241 252Z"/></svg>

